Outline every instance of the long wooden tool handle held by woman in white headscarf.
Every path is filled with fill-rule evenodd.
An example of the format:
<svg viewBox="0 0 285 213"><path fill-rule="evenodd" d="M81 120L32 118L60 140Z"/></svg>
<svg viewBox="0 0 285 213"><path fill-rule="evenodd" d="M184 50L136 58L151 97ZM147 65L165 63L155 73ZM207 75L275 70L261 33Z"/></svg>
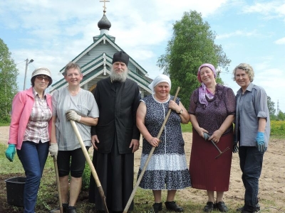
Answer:
<svg viewBox="0 0 285 213"><path fill-rule="evenodd" d="M173 98L173 101L176 100L179 90L180 90L180 87L177 88L177 91L176 91L175 97ZM160 136L162 134L162 131L165 128L165 124L166 124L166 122L167 122L167 120L168 120L168 118L170 116L170 112L171 112L171 109L168 109L167 115L165 116L165 120L163 121L163 124L162 124L162 126L160 128L160 132L157 134L157 138L160 138ZM132 203L133 197L135 197L135 192L138 190L138 185L140 185L140 180L142 180L142 176L143 176L143 174L145 174L145 170L147 168L147 165L148 165L148 163L150 161L150 158L152 157L152 154L153 154L154 151L155 151L155 146L152 146L152 149L150 150L150 154L148 155L147 161L145 162L145 165L142 168L142 172L140 173L140 176L138 177L137 183L135 184L135 187L133 189L133 192L130 195L130 198L129 198L127 204L125 205L125 209L124 209L123 213L127 213L128 212L128 209L130 207L130 204Z"/></svg>

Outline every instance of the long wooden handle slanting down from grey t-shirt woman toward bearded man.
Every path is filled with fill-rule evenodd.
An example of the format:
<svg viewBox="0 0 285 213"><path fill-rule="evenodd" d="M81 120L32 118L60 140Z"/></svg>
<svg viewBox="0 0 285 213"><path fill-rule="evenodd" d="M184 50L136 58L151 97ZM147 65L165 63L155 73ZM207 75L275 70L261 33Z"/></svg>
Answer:
<svg viewBox="0 0 285 213"><path fill-rule="evenodd" d="M97 175L97 173L96 173L96 170L95 170L95 168L94 168L94 165L93 165L93 163L92 163L92 161L91 161L91 159L90 159L90 157L89 157L89 153L88 153L88 151L87 151L87 149L86 149L86 147L85 147L85 145L84 145L84 143L83 143L83 140L82 140L82 138L81 138L81 134L80 134L79 131L78 131L78 128L77 128L77 126L76 126L76 122L73 121L73 120L71 120L71 126L73 127L73 130L74 130L74 132L76 133L76 136L77 136L78 141L79 141L79 143L80 143L80 145L81 145L83 154L84 154L84 156L85 156L85 158L86 158L86 161L87 161L87 163L88 163L88 165L89 165L89 167L90 167L90 170L91 170L91 173L92 173L92 175L93 175L93 178L94 178L94 180L95 180L95 182L96 182L96 185L97 185L97 187L98 187L98 191L99 191L99 194L100 194L100 196L101 196L101 198L102 198L103 207L104 207L104 209L105 209L105 212L109 213L109 212L108 212L108 208L107 208L107 204L106 204L106 197L105 197L105 194L104 194L104 191L103 191L103 187L102 187L102 185L101 185L101 183L100 183L100 180L99 180L99 178L98 178L98 175Z"/></svg>

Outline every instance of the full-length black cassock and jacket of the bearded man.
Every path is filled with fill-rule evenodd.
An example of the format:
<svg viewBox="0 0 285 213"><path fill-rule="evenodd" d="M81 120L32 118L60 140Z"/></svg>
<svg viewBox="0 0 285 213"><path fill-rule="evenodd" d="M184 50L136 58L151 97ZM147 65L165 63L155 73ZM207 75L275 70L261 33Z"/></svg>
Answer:
<svg viewBox="0 0 285 213"><path fill-rule="evenodd" d="M123 211L133 192L134 154L129 148L132 139L140 139L135 124L136 111L140 104L138 84L127 79L125 82L111 82L110 78L100 80L94 92L99 108L98 124L91 129L97 135L93 165L103 187L109 211ZM98 188L91 174L89 202L95 202L95 209L104 210ZM133 202L130 205L133 210Z"/></svg>

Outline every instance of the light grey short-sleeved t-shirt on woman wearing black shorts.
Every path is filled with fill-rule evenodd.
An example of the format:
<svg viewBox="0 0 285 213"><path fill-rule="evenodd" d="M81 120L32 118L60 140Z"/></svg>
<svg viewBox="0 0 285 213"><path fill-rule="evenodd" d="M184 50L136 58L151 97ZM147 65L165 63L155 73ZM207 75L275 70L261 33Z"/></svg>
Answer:
<svg viewBox="0 0 285 213"><path fill-rule="evenodd" d="M99 117L98 105L93 94L85 89L80 89L76 96L68 92L64 87L53 92L53 116L56 116L56 141L59 151L72 151L81 148L71 122L66 119L66 111L73 109L92 118ZM79 133L85 146L91 145L91 126L76 122Z"/></svg>

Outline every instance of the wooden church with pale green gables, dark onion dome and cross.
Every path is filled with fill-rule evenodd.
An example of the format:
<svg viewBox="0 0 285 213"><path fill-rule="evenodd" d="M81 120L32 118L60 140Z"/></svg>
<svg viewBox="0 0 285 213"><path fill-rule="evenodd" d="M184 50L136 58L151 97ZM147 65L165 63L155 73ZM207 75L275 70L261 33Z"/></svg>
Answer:
<svg viewBox="0 0 285 213"><path fill-rule="evenodd" d="M105 16L105 0L103 17L98 22L98 28L100 29L100 35L93 37L93 43L88 46L82 53L76 56L72 62L76 62L81 67L83 74L83 80L81 81L81 88L92 91L95 89L96 84L99 80L110 76L110 68L112 67L112 60L114 53L123 50L115 43L115 37L108 35L111 23ZM63 74L63 67L60 72ZM140 87L141 97L145 97L151 94L148 85L152 80L147 77L147 71L144 70L133 58L130 56L128 63L128 78L138 83ZM61 87L67 87L68 83L66 80L61 79L58 82L51 85L50 93Z"/></svg>

